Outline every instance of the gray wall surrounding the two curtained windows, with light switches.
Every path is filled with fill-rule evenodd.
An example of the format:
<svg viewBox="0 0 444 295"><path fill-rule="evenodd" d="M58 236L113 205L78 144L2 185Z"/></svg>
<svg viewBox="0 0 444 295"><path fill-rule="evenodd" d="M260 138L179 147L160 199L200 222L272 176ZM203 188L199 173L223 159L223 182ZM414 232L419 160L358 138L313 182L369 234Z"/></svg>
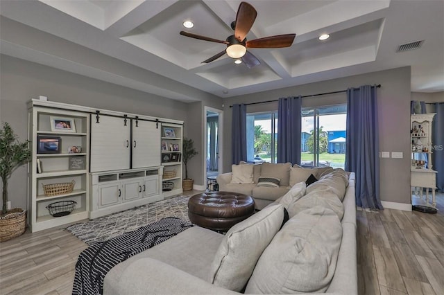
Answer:
<svg viewBox="0 0 444 295"><path fill-rule="evenodd" d="M379 150L403 152L403 159L380 159L380 195L382 201L410 203L410 67L366 73L352 77L304 84L262 93L226 98L224 102L224 172L231 170L231 109L233 103L258 102L286 96L339 91L363 84L382 84L378 90ZM304 98L302 106L335 105L345 94ZM248 106L248 112L275 111L277 102Z"/></svg>

